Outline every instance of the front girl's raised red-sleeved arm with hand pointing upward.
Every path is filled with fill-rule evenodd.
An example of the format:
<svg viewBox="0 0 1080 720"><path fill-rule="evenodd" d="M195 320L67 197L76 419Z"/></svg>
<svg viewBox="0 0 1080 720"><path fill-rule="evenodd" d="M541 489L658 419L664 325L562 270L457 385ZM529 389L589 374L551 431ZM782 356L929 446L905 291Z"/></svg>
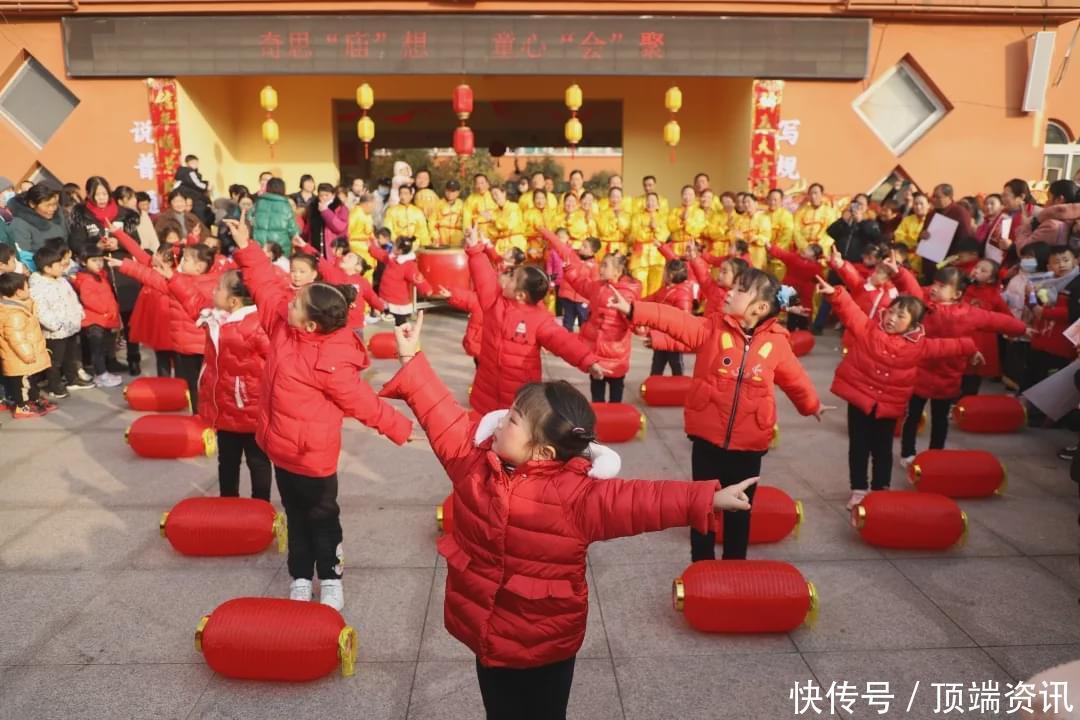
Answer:
<svg viewBox="0 0 1080 720"><path fill-rule="evenodd" d="M476 451L472 443L474 423L419 352L422 326L423 312L420 312L415 325L406 323L394 328L402 368L382 386L379 396L408 404L453 481L457 475L455 465Z"/></svg>

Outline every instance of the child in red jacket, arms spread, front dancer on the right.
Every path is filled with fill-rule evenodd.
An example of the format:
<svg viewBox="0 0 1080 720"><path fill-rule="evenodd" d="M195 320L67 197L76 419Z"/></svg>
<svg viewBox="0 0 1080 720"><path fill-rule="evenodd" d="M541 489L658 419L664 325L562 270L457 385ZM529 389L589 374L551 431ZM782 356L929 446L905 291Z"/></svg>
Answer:
<svg viewBox="0 0 1080 720"><path fill-rule="evenodd" d="M870 490L888 490L892 479L892 438L907 411L919 363L930 358L968 358L975 354L970 338L928 340L919 324L922 301L901 295L878 308L874 316L843 288L818 279L850 334L850 344L833 379L833 394L848 402L848 471L851 510L866 497L866 473L874 458Z"/></svg>

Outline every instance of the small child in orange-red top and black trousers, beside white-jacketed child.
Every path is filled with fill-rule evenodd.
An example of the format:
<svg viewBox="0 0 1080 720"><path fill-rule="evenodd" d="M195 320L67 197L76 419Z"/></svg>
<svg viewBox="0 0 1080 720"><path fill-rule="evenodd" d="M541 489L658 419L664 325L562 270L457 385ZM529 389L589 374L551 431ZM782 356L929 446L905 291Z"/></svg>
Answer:
<svg viewBox="0 0 1080 720"><path fill-rule="evenodd" d="M116 388L123 380L109 372L117 363L117 331L120 329L120 303L105 270L106 253L87 243L82 254L82 268L71 281L82 303L82 341L90 349L94 384Z"/></svg>

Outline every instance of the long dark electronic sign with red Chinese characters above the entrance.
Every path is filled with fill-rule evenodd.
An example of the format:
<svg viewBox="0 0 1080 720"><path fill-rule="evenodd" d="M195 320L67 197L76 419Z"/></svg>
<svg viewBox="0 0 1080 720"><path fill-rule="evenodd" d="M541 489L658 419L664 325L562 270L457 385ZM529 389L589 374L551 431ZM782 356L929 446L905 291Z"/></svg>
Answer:
<svg viewBox="0 0 1080 720"><path fill-rule="evenodd" d="M575 74L856 80L870 21L555 15L65 17L68 74Z"/></svg>

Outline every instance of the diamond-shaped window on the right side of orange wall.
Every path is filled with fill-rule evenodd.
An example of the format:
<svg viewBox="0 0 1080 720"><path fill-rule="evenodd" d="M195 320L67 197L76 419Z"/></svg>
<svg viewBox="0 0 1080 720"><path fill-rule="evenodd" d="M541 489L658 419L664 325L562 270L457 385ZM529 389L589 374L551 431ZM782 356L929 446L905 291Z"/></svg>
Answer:
<svg viewBox="0 0 1080 720"><path fill-rule="evenodd" d="M902 154L927 134L949 107L906 60L889 68L852 104L874 134L894 154Z"/></svg>

